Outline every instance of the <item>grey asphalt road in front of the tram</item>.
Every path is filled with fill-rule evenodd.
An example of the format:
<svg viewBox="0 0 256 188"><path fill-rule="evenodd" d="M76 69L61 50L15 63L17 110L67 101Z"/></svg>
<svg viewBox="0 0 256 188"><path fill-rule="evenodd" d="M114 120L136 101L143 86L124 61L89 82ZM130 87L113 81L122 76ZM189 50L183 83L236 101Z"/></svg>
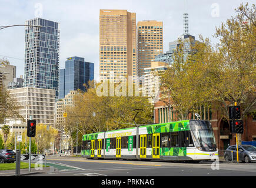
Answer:
<svg viewBox="0 0 256 188"><path fill-rule="evenodd" d="M135 160L89 160L48 156L49 172L33 176L256 176L256 163L174 163Z"/></svg>

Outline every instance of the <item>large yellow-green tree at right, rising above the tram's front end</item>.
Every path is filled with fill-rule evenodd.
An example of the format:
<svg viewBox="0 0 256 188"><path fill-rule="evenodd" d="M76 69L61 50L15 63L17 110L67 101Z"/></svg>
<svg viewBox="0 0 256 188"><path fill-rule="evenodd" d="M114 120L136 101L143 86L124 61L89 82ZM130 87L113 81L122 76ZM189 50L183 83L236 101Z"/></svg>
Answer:
<svg viewBox="0 0 256 188"><path fill-rule="evenodd" d="M200 36L200 42L177 47L174 63L162 73L164 90L162 100L171 96L171 106L181 114L197 110L198 106L212 105L225 119L229 119L228 106L241 106L242 119L256 104L256 16L255 5L241 4L237 15L216 29L220 41L212 45ZM240 135L241 137L241 135Z"/></svg>

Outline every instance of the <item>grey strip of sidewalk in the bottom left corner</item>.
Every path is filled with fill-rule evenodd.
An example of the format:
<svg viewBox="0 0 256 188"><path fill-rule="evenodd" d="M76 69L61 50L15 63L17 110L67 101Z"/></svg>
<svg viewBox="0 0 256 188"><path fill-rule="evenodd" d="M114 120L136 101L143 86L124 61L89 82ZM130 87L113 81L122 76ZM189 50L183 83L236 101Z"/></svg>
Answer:
<svg viewBox="0 0 256 188"><path fill-rule="evenodd" d="M31 172L28 169L21 169L19 176L37 173L47 173L50 171L50 167L44 167L42 170L36 170L31 168ZM0 170L0 176L15 176L15 170Z"/></svg>

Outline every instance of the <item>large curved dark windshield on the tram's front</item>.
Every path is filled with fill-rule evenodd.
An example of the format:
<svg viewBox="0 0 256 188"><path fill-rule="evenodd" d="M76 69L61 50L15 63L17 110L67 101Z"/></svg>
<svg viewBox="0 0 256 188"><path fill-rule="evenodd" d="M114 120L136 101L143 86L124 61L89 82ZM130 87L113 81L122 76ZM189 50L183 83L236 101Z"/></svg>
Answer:
<svg viewBox="0 0 256 188"><path fill-rule="evenodd" d="M199 150L205 152L213 152L217 150L210 122L205 120L190 120L189 126L195 146L197 146Z"/></svg>

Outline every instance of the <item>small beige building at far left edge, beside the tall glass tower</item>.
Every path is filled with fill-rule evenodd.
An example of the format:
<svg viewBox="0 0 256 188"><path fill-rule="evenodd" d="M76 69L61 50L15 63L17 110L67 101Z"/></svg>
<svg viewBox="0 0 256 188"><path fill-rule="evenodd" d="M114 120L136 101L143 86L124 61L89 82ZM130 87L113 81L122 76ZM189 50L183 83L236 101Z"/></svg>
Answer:
<svg viewBox="0 0 256 188"><path fill-rule="evenodd" d="M14 78L16 77L16 66L14 65L5 65L5 66L0 66L0 72L2 75L2 78L0 82L4 86L8 86L9 82L13 82Z"/></svg>

